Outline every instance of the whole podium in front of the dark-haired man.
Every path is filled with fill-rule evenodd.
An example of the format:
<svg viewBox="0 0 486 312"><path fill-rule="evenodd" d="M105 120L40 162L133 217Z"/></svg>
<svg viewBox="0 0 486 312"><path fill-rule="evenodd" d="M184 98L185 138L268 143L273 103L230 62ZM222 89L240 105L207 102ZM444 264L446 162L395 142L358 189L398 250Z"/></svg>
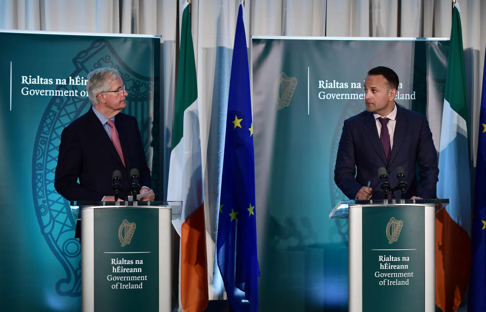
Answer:
<svg viewBox="0 0 486 312"><path fill-rule="evenodd" d="M343 200L349 311L435 311L435 213L443 200Z"/></svg>

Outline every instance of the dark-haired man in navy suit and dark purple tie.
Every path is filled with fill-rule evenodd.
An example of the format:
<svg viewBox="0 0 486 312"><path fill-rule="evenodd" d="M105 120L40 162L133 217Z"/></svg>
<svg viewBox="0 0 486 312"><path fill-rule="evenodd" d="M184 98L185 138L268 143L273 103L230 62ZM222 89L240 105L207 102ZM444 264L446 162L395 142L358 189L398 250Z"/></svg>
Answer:
<svg viewBox="0 0 486 312"><path fill-rule="evenodd" d="M398 184L396 168L403 167L406 198L434 198L439 169L432 132L425 116L395 103L397 88L392 69L371 69L365 79L366 111L344 121L334 181L350 199L384 198L380 167L386 168L392 187Z"/></svg>

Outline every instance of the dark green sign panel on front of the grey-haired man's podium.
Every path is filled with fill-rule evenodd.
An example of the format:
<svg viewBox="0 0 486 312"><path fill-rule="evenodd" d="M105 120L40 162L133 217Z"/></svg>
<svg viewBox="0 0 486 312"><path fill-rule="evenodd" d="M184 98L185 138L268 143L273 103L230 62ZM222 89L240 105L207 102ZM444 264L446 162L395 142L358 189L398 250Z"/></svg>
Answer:
<svg viewBox="0 0 486 312"><path fill-rule="evenodd" d="M158 212L94 211L95 311L158 310Z"/></svg>

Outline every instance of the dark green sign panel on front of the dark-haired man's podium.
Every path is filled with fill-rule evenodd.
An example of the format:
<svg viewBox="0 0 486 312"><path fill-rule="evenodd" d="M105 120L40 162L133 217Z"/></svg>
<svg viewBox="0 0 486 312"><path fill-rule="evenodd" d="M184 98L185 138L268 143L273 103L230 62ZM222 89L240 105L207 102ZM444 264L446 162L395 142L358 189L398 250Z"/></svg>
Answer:
<svg viewBox="0 0 486 312"><path fill-rule="evenodd" d="M425 254L420 229L424 206L362 210L363 311L423 310Z"/></svg>

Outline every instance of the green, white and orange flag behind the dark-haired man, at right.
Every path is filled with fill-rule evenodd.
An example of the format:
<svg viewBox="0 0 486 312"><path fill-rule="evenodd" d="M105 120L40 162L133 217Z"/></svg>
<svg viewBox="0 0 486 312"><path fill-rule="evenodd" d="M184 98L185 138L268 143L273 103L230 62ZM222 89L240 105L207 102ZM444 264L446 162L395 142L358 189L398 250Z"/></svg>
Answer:
<svg viewBox="0 0 486 312"><path fill-rule="evenodd" d="M465 294L471 260L471 183L468 108L459 5L452 15L446 90L440 129L437 197L450 204L436 215L435 304L456 311Z"/></svg>

